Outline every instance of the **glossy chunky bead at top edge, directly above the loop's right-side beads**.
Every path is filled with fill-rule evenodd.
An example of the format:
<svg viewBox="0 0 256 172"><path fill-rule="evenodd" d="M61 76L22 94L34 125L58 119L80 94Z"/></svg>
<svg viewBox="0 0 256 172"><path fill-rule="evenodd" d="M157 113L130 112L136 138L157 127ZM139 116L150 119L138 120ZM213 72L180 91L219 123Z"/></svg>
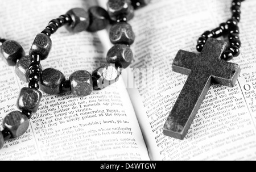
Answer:
<svg viewBox="0 0 256 172"><path fill-rule="evenodd" d="M119 15L125 16L127 20L134 16L134 8L130 0L109 0L107 6L109 16L114 21L118 20Z"/></svg>

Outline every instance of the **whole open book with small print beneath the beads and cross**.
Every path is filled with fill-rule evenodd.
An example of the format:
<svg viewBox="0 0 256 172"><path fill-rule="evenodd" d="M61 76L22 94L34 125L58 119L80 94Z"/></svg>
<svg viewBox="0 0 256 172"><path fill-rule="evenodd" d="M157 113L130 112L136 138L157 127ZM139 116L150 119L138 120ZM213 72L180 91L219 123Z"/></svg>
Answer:
<svg viewBox="0 0 256 172"><path fill-rule="evenodd" d="M1 1L0 36L28 53L49 20L73 7L106 0ZM183 141L163 135L163 125L187 76L172 72L179 49L195 52L197 37L231 16L232 0L152 0L130 21L134 62L117 83L84 98L43 94L25 135L7 141L0 160L256 160L256 1L242 3L242 73L236 87L213 85ZM68 78L92 72L112 47L108 31L73 34L61 28L42 66ZM152 70L154 69L154 70ZM225 70L225 69L223 69ZM16 110L26 83L0 61L0 120Z"/></svg>

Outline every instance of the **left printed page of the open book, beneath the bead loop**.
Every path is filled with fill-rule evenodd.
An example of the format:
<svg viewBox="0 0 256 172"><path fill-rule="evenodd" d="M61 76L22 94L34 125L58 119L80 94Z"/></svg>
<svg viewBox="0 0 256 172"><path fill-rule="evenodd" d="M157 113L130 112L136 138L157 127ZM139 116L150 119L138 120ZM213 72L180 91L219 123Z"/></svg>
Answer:
<svg viewBox="0 0 256 172"><path fill-rule="evenodd" d="M26 54L37 33L51 19L88 1L3 1L0 34L18 41ZM60 70L68 78L76 70L92 72L106 62L112 46L106 30L71 33L64 27L51 36L52 50L42 66ZM14 68L0 61L0 121L16 110L16 97L27 86ZM43 94L28 131L6 141L0 160L149 160L129 95L119 81L88 97L71 93ZM2 126L1 126L2 128Z"/></svg>

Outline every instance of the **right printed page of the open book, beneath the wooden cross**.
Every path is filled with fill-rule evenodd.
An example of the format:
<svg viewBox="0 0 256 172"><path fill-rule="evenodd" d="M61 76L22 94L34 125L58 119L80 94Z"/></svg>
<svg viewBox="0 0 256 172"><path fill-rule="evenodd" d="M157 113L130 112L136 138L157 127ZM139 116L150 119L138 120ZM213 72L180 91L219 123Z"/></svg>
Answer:
<svg viewBox="0 0 256 172"><path fill-rule="evenodd" d="M256 160L253 0L242 2L241 55L232 60L242 68L236 86L210 87L183 141L163 135L163 125L187 79L172 72L176 53L179 49L196 52L197 39L204 31L230 19L231 3L152 0L131 21L137 36L131 68L139 88L130 87L129 93L151 160ZM125 78L129 86L130 75Z"/></svg>

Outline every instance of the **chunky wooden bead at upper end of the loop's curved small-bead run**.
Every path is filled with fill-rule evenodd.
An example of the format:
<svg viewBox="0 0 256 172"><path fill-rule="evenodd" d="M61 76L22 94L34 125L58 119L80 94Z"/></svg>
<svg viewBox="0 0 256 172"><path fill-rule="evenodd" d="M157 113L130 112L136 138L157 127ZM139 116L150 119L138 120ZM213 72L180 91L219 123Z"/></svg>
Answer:
<svg viewBox="0 0 256 172"><path fill-rule="evenodd" d="M73 32L82 32L88 29L90 18L88 12L84 9L75 8L67 12L71 16L71 24L67 28Z"/></svg>

